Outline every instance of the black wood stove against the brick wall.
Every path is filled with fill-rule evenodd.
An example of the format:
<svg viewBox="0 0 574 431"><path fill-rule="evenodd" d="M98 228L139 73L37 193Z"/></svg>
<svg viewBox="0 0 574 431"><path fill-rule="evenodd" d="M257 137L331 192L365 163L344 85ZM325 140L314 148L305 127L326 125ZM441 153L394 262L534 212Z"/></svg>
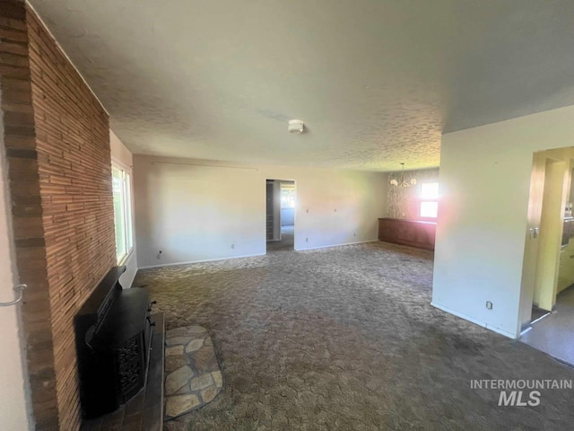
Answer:
<svg viewBox="0 0 574 431"><path fill-rule="evenodd" d="M111 268L74 317L84 418L114 411L145 384L152 303L144 288L122 289L124 271Z"/></svg>

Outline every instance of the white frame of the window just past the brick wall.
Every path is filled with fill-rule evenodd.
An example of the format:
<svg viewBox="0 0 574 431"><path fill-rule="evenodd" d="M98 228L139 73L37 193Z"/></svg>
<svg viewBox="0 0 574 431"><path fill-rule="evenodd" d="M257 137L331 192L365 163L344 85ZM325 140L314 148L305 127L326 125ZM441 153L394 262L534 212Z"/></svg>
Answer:
<svg viewBox="0 0 574 431"><path fill-rule="evenodd" d="M116 205L114 205L114 229L115 229L115 237L116 240L116 259L117 265L123 265L126 263L126 260L129 259L131 254L134 252L134 211L133 211L133 175L132 169L126 164L119 162L117 159L112 157L111 159L111 167L112 167L112 192L114 188L114 169L117 169L122 173L122 183L121 183L121 192L123 194L123 230L124 233L124 245L126 252L122 255L117 253L117 214L116 214Z"/></svg>

